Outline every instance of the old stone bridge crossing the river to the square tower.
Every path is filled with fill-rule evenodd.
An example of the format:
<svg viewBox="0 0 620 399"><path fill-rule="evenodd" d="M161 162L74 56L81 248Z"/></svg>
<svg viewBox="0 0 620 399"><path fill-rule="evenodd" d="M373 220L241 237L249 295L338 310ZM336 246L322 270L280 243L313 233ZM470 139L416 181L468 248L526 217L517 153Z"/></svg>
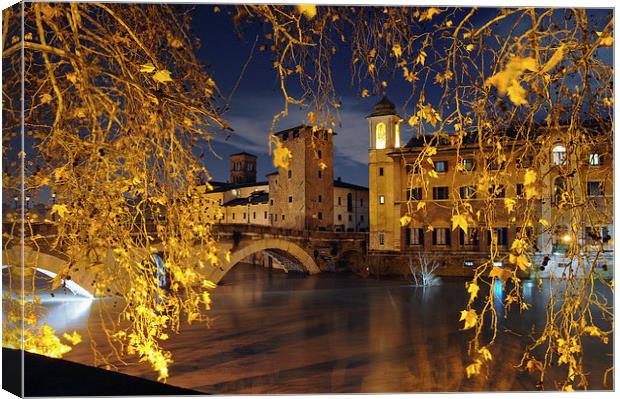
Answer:
<svg viewBox="0 0 620 399"><path fill-rule="evenodd" d="M366 265L367 233L341 233L328 231L298 231L251 224L218 224L214 226L220 248L220 266L211 267L207 276L218 283L236 264L249 261L254 255L267 255L278 267L286 271L299 271L315 274L321 271L358 270ZM3 223L3 232L16 229ZM17 230L13 231L15 234ZM28 235L43 237L43 242L54 237L54 228L50 224L36 224L28 229ZM30 240L26 239L26 242ZM161 246L155 244L156 249ZM224 259L230 251L230 261ZM196 247L196 261L201 259L201 248ZM147 254L136 254L136 257ZM103 256L102 262L115 262L110 249ZM19 240L3 242L2 264L19 266L22 263L22 251ZM204 260L204 259L203 259ZM54 276L68 265L68 259L46 245L34 248L26 244L23 252L26 268L47 271ZM196 262L197 263L197 262ZM208 264L207 262L204 262ZM77 284L85 291L94 293L95 275L87 265L74 265L71 273L71 285ZM210 266L208 266L210 267ZM111 287L110 292L119 291Z"/></svg>

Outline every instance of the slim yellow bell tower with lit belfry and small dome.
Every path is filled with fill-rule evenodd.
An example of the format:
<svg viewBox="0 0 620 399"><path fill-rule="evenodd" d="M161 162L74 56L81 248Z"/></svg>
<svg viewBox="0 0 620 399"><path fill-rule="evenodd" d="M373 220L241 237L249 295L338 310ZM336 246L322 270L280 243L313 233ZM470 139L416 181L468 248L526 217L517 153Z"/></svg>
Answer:
<svg viewBox="0 0 620 399"><path fill-rule="evenodd" d="M400 250L400 160L389 154L398 150L400 122L396 107L383 96L366 117L370 131L368 174L370 188L370 249Z"/></svg>

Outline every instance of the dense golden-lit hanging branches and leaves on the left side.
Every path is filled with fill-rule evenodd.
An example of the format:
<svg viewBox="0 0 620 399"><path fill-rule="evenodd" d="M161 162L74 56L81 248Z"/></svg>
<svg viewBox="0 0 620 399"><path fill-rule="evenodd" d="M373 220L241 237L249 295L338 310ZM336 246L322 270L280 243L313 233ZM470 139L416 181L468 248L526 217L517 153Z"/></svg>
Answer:
<svg viewBox="0 0 620 399"><path fill-rule="evenodd" d="M3 64L19 71L23 48L25 193L57 201L48 220L57 234L33 241L67 258L52 286L86 273L96 296L123 299L120 318L104 323L114 353L135 354L165 380L172 359L163 343L183 319L206 320L208 275L220 262L211 234L219 210L201 195L209 175L197 156L210 132L228 128L217 86L195 56L183 9L28 3L23 17L22 42L19 7L5 13ZM20 77L7 73L3 84L5 154L19 150ZM11 168L4 189L18 191L21 176L9 170L19 168ZM32 216L27 228L36 222ZM5 238L9 245L19 235ZM25 349L70 350L42 316L32 311ZM19 342L4 337L4 345Z"/></svg>

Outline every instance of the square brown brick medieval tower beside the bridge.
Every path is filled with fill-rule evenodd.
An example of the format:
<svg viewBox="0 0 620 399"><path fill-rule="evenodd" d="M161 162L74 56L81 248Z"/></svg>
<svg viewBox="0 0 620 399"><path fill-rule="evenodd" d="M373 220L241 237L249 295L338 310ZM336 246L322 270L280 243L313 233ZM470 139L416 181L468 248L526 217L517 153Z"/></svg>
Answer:
<svg viewBox="0 0 620 399"><path fill-rule="evenodd" d="M296 230L332 230L334 144L325 130L297 126L276 133L291 151L288 170L269 176L271 224Z"/></svg>

